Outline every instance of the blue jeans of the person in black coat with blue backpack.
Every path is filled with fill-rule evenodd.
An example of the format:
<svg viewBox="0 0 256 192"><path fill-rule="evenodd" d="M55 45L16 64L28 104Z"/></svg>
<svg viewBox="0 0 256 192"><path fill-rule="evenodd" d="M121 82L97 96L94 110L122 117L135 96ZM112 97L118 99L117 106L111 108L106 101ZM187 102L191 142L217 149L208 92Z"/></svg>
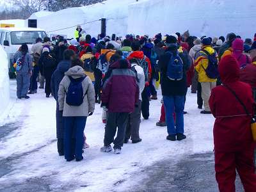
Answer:
<svg viewBox="0 0 256 192"><path fill-rule="evenodd" d="M168 134L184 133L184 96L163 96ZM174 124L173 112L176 114Z"/></svg>

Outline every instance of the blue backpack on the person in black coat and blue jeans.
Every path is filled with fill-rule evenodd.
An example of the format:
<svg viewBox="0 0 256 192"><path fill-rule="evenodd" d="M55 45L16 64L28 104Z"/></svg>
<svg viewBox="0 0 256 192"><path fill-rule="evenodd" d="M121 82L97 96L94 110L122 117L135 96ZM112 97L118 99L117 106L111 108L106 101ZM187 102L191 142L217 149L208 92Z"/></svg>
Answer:
<svg viewBox="0 0 256 192"><path fill-rule="evenodd" d="M180 81L183 79L183 61L179 56L179 52L173 54L167 66L167 74L168 79L172 81Z"/></svg>

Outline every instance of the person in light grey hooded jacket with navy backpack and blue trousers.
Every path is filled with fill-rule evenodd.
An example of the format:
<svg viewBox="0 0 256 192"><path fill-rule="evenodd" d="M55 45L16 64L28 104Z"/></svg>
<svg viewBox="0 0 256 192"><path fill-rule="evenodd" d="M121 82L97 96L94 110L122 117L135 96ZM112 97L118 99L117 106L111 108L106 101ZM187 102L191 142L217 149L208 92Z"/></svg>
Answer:
<svg viewBox="0 0 256 192"><path fill-rule="evenodd" d="M83 62L74 58L58 90L59 110L64 118L65 159L83 160L84 127L87 116L95 109L95 92L90 77L84 74ZM75 136L75 150L72 150L72 136Z"/></svg>

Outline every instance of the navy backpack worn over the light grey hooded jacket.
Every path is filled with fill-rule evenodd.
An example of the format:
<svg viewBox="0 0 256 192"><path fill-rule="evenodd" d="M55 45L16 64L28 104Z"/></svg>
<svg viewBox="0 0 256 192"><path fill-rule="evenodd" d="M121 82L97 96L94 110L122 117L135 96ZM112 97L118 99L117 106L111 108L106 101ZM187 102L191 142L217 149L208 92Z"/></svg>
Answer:
<svg viewBox="0 0 256 192"><path fill-rule="evenodd" d="M85 94L83 93L82 82L84 81L85 77L74 79L68 76L70 79L70 84L68 86L68 91L66 92L66 103L69 106L81 106L81 104L83 104L84 97L88 91L87 90Z"/></svg>

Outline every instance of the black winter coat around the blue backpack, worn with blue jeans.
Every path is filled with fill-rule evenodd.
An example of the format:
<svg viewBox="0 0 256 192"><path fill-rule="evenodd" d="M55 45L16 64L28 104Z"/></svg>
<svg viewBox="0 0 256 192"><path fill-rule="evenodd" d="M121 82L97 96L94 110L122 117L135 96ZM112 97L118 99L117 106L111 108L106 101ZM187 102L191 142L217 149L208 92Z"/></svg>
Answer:
<svg viewBox="0 0 256 192"><path fill-rule="evenodd" d="M188 54L179 53L179 56L183 61L183 79L180 81L172 81L166 75L168 63L171 58L170 49L166 49L165 53L159 58L158 64L161 70L161 89L163 96L183 96L188 91L186 72L190 68L190 61Z"/></svg>

